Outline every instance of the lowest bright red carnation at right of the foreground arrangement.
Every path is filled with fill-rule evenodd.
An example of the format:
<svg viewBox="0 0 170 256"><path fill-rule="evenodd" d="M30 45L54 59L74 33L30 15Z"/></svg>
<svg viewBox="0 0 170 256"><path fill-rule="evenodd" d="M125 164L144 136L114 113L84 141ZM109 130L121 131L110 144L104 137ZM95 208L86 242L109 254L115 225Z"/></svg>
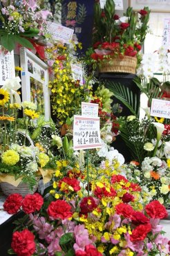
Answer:
<svg viewBox="0 0 170 256"><path fill-rule="evenodd" d="M135 229L132 230L132 234L130 235L131 241L142 241L147 237L147 234L151 231L151 224L147 223L145 225L139 225Z"/></svg>

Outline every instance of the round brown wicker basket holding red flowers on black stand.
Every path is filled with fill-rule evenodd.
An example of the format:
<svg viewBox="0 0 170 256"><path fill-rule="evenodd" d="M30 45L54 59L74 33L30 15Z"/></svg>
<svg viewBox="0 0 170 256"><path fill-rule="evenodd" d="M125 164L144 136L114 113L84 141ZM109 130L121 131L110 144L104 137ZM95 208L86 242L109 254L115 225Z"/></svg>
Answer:
<svg viewBox="0 0 170 256"><path fill-rule="evenodd" d="M109 60L102 63L100 66L100 73L113 72L135 74L136 64L136 57L111 57Z"/></svg>

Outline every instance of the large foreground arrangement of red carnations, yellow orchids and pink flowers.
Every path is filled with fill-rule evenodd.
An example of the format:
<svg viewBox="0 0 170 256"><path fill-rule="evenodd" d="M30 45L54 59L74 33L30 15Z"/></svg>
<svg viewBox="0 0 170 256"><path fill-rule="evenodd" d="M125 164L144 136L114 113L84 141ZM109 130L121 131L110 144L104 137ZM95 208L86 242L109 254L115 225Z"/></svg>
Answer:
<svg viewBox="0 0 170 256"><path fill-rule="evenodd" d="M12 235L12 250L31 255L157 255L169 253L160 219L167 211L159 201L143 206L138 184L120 175L119 163L104 161L86 190L86 172L64 159L57 161L54 197L37 193L24 199L8 196L10 214L23 210ZM82 185L81 185L82 182Z"/></svg>

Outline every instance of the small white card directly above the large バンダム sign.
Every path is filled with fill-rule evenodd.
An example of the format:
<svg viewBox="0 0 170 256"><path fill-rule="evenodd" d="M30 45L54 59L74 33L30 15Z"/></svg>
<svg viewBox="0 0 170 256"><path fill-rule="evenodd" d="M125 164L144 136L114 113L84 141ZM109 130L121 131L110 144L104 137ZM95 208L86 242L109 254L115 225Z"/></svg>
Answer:
<svg viewBox="0 0 170 256"><path fill-rule="evenodd" d="M82 116L97 118L98 111L99 111L99 104L82 102Z"/></svg>

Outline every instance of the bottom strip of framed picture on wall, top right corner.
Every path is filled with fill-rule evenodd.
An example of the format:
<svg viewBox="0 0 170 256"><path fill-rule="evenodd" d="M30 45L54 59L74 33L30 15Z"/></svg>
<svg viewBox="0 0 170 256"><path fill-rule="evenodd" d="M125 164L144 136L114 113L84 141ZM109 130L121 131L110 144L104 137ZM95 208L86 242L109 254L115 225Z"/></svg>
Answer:
<svg viewBox="0 0 170 256"><path fill-rule="evenodd" d="M170 0L129 0L133 10L141 10L148 6L151 12L170 12Z"/></svg>

